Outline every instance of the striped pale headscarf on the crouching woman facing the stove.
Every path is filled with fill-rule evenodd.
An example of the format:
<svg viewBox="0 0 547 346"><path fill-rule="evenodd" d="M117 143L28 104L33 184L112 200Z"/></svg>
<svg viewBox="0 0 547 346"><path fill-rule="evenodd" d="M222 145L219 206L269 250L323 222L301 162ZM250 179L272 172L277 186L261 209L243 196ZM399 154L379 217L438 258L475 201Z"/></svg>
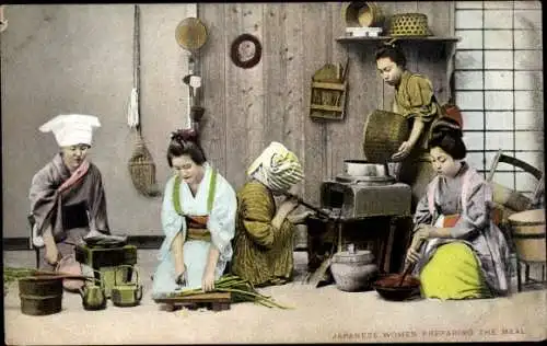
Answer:
<svg viewBox="0 0 547 346"><path fill-rule="evenodd" d="M251 164L247 174L275 191L288 191L304 177L296 155L277 141Z"/></svg>

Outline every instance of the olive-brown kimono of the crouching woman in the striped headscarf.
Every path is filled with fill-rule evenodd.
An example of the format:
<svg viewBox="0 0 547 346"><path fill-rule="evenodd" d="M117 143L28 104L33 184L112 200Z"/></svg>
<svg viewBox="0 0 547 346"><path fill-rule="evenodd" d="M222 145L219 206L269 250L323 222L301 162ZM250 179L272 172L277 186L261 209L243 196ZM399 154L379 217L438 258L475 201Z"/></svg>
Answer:
<svg viewBox="0 0 547 346"><path fill-rule="evenodd" d="M237 193L237 224L232 272L253 285L278 285L292 278L293 230L286 219L276 230L276 203L266 185L247 182Z"/></svg>

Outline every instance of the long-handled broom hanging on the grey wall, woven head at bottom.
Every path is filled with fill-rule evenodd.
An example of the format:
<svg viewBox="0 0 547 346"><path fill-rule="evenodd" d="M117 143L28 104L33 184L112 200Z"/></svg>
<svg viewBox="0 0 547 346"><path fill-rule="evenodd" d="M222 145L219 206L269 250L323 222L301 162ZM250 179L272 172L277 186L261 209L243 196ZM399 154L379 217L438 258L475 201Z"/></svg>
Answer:
<svg viewBox="0 0 547 346"><path fill-rule="evenodd" d="M133 30L133 88L128 107L128 125L135 128L135 149L129 159L129 174L137 191L147 196L159 196L160 191L155 181L155 164L152 154L144 145L139 122L140 116L140 11L135 5L135 30Z"/></svg>

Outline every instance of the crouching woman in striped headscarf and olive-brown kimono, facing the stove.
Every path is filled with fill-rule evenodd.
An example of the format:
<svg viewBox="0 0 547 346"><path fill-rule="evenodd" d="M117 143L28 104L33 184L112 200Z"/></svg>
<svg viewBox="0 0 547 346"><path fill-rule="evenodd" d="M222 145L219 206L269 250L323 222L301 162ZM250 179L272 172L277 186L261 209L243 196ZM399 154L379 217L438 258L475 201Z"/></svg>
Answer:
<svg viewBox="0 0 547 346"><path fill-rule="evenodd" d="M283 145L271 142L247 175L252 180L237 193L232 272L255 286L281 285L292 278L294 223L307 212L288 217L298 201L286 199L276 208L274 196L303 178L302 166Z"/></svg>

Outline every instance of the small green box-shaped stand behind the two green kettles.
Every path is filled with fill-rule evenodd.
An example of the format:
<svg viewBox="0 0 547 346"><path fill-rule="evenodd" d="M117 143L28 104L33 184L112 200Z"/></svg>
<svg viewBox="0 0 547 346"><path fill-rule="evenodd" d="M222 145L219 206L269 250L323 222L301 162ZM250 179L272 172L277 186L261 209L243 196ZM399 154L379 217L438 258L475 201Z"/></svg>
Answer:
<svg viewBox="0 0 547 346"><path fill-rule="evenodd" d="M100 279L102 276L107 298L110 298L110 290L114 286L114 275L116 275L117 266L137 264L137 246L135 245L125 245L121 247L90 247L82 244L75 246L74 253L75 261L100 272L95 273L95 278ZM127 269L127 275L121 281L129 281L131 275L132 270Z"/></svg>

